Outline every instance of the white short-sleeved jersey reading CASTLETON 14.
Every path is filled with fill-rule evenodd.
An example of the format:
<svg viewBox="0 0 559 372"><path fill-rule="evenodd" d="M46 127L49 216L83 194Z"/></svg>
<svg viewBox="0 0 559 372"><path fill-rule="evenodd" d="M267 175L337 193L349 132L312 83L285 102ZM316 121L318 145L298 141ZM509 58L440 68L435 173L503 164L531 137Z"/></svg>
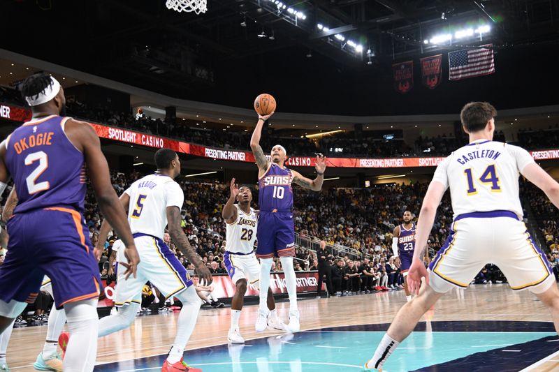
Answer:
<svg viewBox="0 0 559 372"><path fill-rule="evenodd" d="M454 151L437 167L433 181L450 187L454 216L474 211L513 211L522 219L518 174L534 163L521 147L479 140Z"/></svg>

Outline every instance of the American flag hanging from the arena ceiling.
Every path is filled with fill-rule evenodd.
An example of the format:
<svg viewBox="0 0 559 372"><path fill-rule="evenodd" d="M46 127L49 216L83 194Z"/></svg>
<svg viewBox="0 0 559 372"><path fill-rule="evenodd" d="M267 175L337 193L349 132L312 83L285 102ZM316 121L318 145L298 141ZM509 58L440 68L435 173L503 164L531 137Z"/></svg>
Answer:
<svg viewBox="0 0 559 372"><path fill-rule="evenodd" d="M495 73L493 49L479 48L449 52L449 80L462 80Z"/></svg>

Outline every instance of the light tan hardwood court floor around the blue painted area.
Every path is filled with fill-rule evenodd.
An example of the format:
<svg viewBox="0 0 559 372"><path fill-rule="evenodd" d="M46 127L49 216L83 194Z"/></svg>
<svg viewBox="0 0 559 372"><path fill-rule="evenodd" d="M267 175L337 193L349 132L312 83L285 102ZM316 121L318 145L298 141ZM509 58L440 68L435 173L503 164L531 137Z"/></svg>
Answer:
<svg viewBox="0 0 559 372"><path fill-rule="evenodd" d="M307 299L299 302L301 330L389 323L404 302L403 291ZM279 303L277 308L286 321L289 303ZM245 340L274 334L254 332L256 310L257 306L245 306L242 311L240 325ZM173 343L177 315L141 316L130 329L100 338L97 362L165 354ZM465 291L452 290L435 306L433 322L465 320L551 322L551 315L528 291L513 292L508 285L472 285ZM226 343L229 323L229 308L201 311L187 350ZM34 371L32 364L42 348L46 329L46 325L42 325L13 330L7 352L8 364L13 371ZM371 345L371 353L375 346ZM530 370L559 371L559 355L549 359Z"/></svg>

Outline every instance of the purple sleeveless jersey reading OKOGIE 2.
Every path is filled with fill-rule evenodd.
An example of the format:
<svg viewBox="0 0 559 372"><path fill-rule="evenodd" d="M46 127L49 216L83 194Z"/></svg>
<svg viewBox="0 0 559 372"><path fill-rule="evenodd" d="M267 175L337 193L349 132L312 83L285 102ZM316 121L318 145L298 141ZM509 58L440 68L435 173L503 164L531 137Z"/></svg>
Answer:
<svg viewBox="0 0 559 372"><path fill-rule="evenodd" d="M19 200L14 213L55 206L83 211L85 162L66 137L68 117L28 121L6 140L6 167Z"/></svg>

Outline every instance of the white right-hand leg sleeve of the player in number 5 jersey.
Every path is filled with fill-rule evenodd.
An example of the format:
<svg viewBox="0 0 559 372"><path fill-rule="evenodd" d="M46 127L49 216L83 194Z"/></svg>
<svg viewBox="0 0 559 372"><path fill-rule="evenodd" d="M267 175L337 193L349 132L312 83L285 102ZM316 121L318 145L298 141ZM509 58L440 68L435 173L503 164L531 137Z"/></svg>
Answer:
<svg viewBox="0 0 559 372"><path fill-rule="evenodd" d="M176 296L182 302L182 309L179 313L177 320L177 335L173 342L173 347L170 348L167 360L170 364L175 364L180 361L184 353L184 346L187 345L189 338L196 326L198 313L200 312L200 305L202 300L196 295L194 285L191 285L186 290L180 292Z"/></svg>

